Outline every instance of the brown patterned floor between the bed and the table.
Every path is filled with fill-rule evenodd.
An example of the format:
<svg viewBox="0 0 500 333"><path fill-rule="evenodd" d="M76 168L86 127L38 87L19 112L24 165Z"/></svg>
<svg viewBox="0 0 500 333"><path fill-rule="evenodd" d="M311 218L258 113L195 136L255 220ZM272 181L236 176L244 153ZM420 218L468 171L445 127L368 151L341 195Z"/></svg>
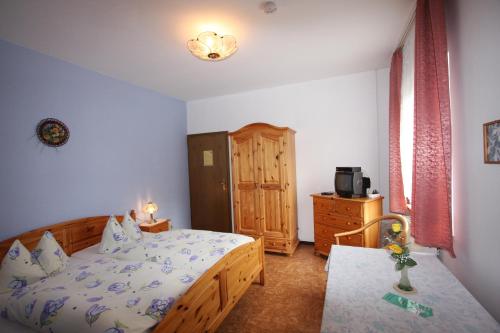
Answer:
<svg viewBox="0 0 500 333"><path fill-rule="evenodd" d="M301 244L291 257L266 254L265 260L266 285L252 285L217 333L319 332L326 259Z"/></svg>

